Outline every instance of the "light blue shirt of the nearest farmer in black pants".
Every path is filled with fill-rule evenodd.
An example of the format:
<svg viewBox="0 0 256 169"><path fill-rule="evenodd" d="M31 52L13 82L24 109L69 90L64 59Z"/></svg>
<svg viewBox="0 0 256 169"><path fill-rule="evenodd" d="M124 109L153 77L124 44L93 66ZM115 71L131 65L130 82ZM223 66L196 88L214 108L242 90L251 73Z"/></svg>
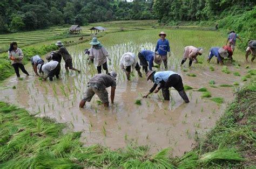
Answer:
<svg viewBox="0 0 256 169"><path fill-rule="evenodd" d="M150 92L152 93L157 88L158 85L159 85L158 90L164 87L169 77L173 74L178 74L178 73L172 72L172 71L156 72L154 74L154 86L150 89Z"/></svg>

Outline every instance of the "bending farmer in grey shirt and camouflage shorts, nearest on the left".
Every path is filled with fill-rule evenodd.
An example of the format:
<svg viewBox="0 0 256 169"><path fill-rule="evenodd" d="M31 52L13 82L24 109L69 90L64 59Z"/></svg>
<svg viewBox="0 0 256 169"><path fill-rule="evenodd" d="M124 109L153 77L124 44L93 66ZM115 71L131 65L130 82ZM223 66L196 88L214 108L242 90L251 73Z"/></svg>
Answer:
<svg viewBox="0 0 256 169"><path fill-rule="evenodd" d="M114 91L116 90L116 72L110 72L108 74L96 74L88 82L88 88L85 91L85 96L80 101L79 107L83 108L85 102L90 102L92 97L97 94L100 101L102 101L104 107L109 107L109 94L106 88L111 86L111 103L114 103Z"/></svg>

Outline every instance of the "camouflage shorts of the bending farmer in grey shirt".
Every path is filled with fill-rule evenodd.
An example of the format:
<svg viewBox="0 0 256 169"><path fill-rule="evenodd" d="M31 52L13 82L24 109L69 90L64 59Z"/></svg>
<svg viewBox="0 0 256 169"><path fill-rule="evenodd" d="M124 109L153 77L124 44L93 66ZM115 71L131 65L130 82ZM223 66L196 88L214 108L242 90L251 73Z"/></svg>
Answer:
<svg viewBox="0 0 256 169"><path fill-rule="evenodd" d="M102 103L109 103L109 93L106 88L98 83L89 83L85 91L83 101L90 102L92 97L97 94Z"/></svg>

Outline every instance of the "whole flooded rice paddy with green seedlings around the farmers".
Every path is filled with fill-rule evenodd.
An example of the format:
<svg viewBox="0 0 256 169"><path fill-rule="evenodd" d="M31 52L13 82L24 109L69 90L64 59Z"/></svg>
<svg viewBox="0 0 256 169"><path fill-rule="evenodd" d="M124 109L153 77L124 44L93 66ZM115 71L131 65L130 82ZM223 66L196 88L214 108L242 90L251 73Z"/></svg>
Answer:
<svg viewBox="0 0 256 169"><path fill-rule="evenodd" d="M146 81L144 72L143 78L138 78L134 72L131 81L127 81L119 60L125 52L137 54L143 49L154 50L161 30L113 32L99 38L110 52L109 69L118 74L116 97L110 108L103 108L97 96L91 103L86 103L85 108L78 108L88 80L97 72L83 53L90 47L88 42L68 47L73 65L82 73L66 74L62 62L61 79L44 82L33 76L31 65L26 65L30 76L21 79L12 76L5 80L0 100L19 105L38 117L66 123L72 131L82 131L80 141L84 146L99 144L116 150L135 143L150 146L150 153L170 148L172 156L181 156L194 147L195 138L203 138L213 128L234 99L234 91L255 80L255 64L245 64L244 52L238 49L233 57L236 62L220 66L213 58L208 64L210 47L225 43L226 38L219 32L164 29L171 46L169 69L183 78L190 103L183 103L174 89L171 89L171 101L164 101L160 92L142 98L153 84ZM193 64L191 68L188 68L188 62L180 67L187 45L205 50L199 57L199 64ZM164 70L163 65L155 70Z"/></svg>

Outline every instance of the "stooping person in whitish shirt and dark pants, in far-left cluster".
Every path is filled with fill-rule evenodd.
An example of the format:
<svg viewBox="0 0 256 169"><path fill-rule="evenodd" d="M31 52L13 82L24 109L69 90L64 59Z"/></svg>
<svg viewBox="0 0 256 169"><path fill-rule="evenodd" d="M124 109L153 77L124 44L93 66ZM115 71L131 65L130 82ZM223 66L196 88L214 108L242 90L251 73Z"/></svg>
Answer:
<svg viewBox="0 0 256 169"><path fill-rule="evenodd" d="M58 61L52 60L47 64L38 64L37 69L39 70L39 73L46 74L45 76L41 76L43 80L46 80L49 77L49 80L52 81L54 76L59 79L60 63Z"/></svg>

